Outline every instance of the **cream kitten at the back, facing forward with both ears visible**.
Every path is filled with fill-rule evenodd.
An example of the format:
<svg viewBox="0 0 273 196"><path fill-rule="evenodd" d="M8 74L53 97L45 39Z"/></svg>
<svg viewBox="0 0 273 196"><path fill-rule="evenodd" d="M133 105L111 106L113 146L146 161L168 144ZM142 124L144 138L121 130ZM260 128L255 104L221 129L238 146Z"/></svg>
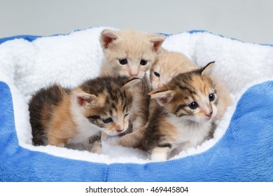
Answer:
<svg viewBox="0 0 273 196"><path fill-rule="evenodd" d="M141 78L141 83L134 86L134 103L130 118L133 131L138 130L148 120L147 93L151 92L151 84L146 71L151 68L158 53L161 52L165 36L130 29L118 31L104 29L100 41L105 56L101 76L118 75Z"/></svg>

